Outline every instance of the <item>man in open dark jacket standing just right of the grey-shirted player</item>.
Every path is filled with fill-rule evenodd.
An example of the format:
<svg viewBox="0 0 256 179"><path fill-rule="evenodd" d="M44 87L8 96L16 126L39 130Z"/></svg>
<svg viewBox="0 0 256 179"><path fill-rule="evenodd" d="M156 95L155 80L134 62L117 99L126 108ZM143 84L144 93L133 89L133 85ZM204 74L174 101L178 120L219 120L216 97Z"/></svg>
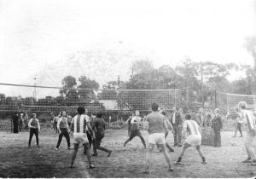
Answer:
<svg viewBox="0 0 256 179"><path fill-rule="evenodd" d="M181 132L179 132L179 130L182 127L182 118L180 113L177 113L177 107L172 107L172 114L171 114L171 124L173 126L173 136L174 136L174 145L173 147L177 146L177 147L182 147L181 141L182 141L182 136L180 135Z"/></svg>

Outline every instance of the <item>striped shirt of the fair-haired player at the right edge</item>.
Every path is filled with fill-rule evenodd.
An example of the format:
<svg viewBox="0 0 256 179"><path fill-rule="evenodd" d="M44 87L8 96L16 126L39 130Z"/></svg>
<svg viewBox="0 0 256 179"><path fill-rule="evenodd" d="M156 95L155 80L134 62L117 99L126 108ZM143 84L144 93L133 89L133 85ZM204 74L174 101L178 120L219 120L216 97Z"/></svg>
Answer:
<svg viewBox="0 0 256 179"><path fill-rule="evenodd" d="M256 130L256 121L253 113L248 110L241 110L241 121L243 124L247 124L247 131Z"/></svg>

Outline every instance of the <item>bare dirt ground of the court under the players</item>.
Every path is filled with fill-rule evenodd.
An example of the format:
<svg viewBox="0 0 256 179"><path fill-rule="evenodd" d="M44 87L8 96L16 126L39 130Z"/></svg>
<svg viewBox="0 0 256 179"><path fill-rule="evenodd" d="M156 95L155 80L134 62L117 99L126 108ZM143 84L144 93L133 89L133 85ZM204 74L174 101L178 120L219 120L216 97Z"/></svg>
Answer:
<svg viewBox="0 0 256 179"><path fill-rule="evenodd" d="M233 132L222 132L222 147L203 146L207 165L201 164L195 148L189 148L183 157L185 166L173 166L174 172L167 171L163 153L154 149L151 159L152 167L149 175L143 174L145 168L146 149L138 137L123 147L127 139L127 130L107 130L102 146L113 150L111 157L99 151L97 157L92 157L96 169L87 169L87 159L82 153L82 147L75 161L76 168L70 169L71 153L67 150L67 141L63 138L61 149L55 151L58 135L52 130L40 133L41 147L27 148L28 132L8 134L0 132L0 177L255 177L256 166L242 164L246 159L244 138L232 137ZM143 131L145 140L148 134ZM73 141L73 136L71 141ZM173 144L172 135L167 141ZM253 143L256 151L256 144ZM172 161L177 159L180 147L174 147L175 152L169 153ZM92 151L91 151L92 153Z"/></svg>

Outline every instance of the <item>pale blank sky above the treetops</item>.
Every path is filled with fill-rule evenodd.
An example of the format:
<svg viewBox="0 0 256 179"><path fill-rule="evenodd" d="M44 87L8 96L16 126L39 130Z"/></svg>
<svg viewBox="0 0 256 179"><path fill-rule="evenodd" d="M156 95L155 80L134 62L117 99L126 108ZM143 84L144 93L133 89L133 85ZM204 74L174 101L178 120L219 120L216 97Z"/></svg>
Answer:
<svg viewBox="0 0 256 179"><path fill-rule="evenodd" d="M0 0L0 83L33 84L35 76L44 78L61 64L68 68L70 56L87 51L111 51L123 68L92 75L92 66L85 75L100 84L118 74L127 80L134 56L156 67L177 66L186 57L253 66L243 43L255 35L255 9L255 0ZM37 83L61 86L61 79L49 81ZM0 86L0 93L16 95L10 91Z"/></svg>

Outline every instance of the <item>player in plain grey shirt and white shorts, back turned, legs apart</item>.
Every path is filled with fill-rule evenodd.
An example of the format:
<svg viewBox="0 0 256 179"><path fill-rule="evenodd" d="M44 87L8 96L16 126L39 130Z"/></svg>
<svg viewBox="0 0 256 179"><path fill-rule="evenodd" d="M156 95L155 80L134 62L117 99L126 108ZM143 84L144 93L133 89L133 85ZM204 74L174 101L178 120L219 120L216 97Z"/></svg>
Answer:
<svg viewBox="0 0 256 179"><path fill-rule="evenodd" d="M169 155L166 151L166 138L165 133L167 126L165 123L165 117L158 113L158 104L152 104L152 113L149 113L146 117L148 121L148 152L146 154L146 170L145 174L149 174L150 158L155 144L161 148L161 151L164 153L166 162L168 164L168 171L173 171Z"/></svg>

